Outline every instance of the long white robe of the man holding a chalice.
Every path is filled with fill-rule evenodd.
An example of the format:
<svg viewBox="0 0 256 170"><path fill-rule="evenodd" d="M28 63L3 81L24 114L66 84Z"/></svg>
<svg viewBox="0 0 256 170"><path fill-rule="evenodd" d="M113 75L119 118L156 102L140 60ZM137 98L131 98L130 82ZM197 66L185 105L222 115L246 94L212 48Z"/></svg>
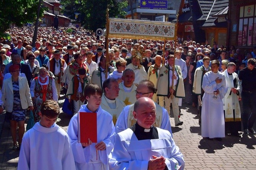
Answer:
<svg viewBox="0 0 256 170"><path fill-rule="evenodd" d="M222 79L221 83L216 83L215 79ZM204 74L202 88L204 90L201 129L202 137L224 138L225 122L222 98L227 93L225 76L221 72L212 71ZM217 99L213 98L213 91L219 90Z"/></svg>

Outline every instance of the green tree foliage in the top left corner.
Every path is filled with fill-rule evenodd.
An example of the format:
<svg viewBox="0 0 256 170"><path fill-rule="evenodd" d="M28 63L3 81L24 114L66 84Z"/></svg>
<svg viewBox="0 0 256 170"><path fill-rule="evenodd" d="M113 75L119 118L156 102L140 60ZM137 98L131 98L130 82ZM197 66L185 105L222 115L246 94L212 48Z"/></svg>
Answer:
<svg viewBox="0 0 256 170"><path fill-rule="evenodd" d="M3 34L11 24L22 26L34 23L39 0L2 0L0 8L0 34ZM41 16L43 9L41 9Z"/></svg>

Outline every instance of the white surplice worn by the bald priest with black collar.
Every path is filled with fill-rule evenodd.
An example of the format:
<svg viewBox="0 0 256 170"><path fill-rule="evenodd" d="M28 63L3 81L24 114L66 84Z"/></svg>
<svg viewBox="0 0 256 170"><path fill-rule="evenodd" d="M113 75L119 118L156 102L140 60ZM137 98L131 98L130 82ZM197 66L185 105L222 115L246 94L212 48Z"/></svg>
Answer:
<svg viewBox="0 0 256 170"><path fill-rule="evenodd" d="M152 155L165 157L169 170L184 169L183 154L172 139L169 131L157 128L159 139L138 140L128 128L116 135L115 145L109 155L110 170L147 170Z"/></svg>

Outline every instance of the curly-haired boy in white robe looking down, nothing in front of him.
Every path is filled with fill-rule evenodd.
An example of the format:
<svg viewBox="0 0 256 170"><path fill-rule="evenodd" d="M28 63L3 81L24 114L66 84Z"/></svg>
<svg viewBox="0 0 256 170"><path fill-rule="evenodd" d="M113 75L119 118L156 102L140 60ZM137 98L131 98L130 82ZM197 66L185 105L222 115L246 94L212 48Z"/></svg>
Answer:
<svg viewBox="0 0 256 170"><path fill-rule="evenodd" d="M76 169L68 135L55 123L59 114L56 101L42 104L41 121L23 136L18 170Z"/></svg>

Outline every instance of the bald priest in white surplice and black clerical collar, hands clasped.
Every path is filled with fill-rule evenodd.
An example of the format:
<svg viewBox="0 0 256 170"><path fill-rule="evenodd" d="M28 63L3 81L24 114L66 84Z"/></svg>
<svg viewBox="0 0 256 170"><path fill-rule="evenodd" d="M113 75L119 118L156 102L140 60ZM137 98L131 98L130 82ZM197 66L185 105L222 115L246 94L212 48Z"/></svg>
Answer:
<svg viewBox="0 0 256 170"><path fill-rule="evenodd" d="M183 170L183 154L169 131L154 127L156 105L143 97L134 103L135 125L115 137L109 155L110 170Z"/></svg>

